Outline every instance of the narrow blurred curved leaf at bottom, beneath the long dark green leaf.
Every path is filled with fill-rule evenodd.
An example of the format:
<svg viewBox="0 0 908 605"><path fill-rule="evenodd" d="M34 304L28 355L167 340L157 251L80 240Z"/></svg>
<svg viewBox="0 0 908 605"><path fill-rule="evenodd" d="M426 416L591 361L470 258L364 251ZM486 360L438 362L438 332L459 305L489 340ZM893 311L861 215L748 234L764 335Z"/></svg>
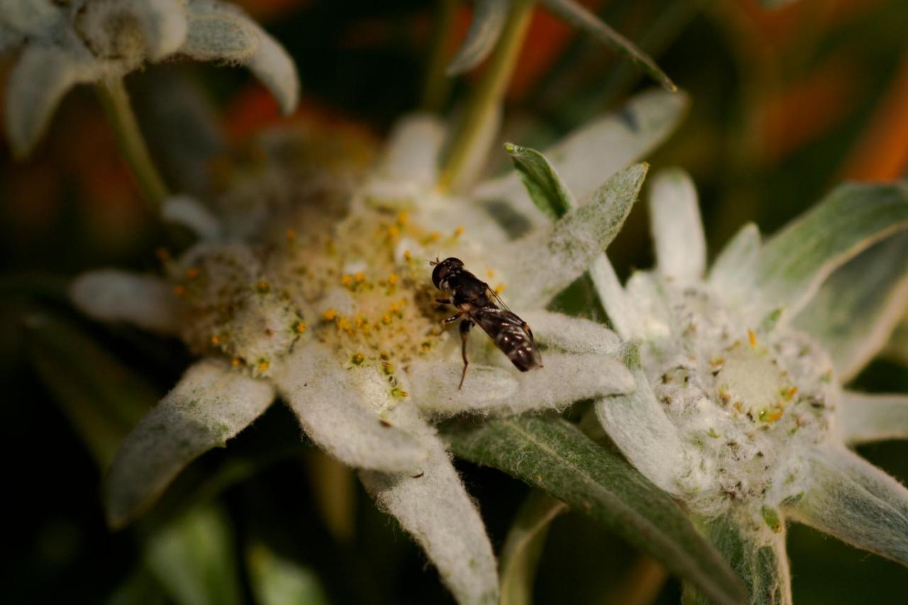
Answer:
<svg viewBox="0 0 908 605"><path fill-rule="evenodd" d="M532 491L508 531L501 550L500 605L523 605L532 602L533 581L542 547L546 542L549 524L568 505L548 496L544 491Z"/></svg>

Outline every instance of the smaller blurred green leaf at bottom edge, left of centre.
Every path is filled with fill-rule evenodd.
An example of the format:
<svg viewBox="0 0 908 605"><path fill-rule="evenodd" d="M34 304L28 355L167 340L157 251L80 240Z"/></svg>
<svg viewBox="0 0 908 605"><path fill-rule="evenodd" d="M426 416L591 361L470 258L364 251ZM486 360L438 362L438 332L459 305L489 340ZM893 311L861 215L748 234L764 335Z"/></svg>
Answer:
<svg viewBox="0 0 908 605"><path fill-rule="evenodd" d="M257 605L328 605L315 572L284 559L262 544L246 553Z"/></svg>

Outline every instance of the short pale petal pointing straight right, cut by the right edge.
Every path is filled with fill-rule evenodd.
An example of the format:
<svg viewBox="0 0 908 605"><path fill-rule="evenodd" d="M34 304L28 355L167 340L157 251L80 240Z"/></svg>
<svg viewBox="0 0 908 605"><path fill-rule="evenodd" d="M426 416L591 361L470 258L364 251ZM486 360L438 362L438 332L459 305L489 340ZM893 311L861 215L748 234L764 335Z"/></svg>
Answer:
<svg viewBox="0 0 908 605"><path fill-rule="evenodd" d="M846 391L838 421L846 443L908 439L908 395Z"/></svg>

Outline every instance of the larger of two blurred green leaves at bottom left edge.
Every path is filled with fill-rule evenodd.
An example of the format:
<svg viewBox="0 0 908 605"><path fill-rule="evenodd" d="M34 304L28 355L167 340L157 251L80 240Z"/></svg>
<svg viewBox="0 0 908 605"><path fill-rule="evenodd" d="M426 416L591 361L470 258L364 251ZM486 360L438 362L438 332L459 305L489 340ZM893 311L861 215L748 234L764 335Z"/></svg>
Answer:
<svg viewBox="0 0 908 605"><path fill-rule="evenodd" d="M148 570L178 605L239 605L232 528L212 505L187 512L145 538Z"/></svg>

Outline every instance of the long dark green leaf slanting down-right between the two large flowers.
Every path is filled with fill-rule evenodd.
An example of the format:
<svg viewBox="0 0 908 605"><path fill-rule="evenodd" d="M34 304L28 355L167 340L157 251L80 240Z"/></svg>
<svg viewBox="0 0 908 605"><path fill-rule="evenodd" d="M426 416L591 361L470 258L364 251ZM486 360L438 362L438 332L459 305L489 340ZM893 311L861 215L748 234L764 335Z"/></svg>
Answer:
<svg viewBox="0 0 908 605"><path fill-rule="evenodd" d="M447 427L455 453L505 471L603 523L717 602L744 590L686 513L616 453L560 419L518 416Z"/></svg>

